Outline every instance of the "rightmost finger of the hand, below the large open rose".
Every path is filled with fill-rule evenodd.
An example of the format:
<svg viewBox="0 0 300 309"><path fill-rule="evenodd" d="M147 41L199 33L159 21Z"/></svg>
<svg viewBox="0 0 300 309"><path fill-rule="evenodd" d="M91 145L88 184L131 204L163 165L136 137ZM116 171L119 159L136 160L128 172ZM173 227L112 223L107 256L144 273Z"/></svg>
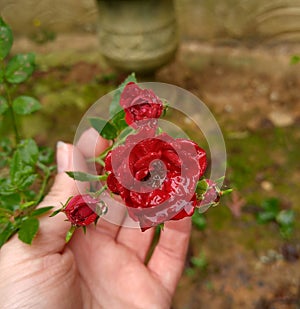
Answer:
<svg viewBox="0 0 300 309"><path fill-rule="evenodd" d="M190 233L191 218L166 222L148 263L149 270L171 295L183 271Z"/></svg>

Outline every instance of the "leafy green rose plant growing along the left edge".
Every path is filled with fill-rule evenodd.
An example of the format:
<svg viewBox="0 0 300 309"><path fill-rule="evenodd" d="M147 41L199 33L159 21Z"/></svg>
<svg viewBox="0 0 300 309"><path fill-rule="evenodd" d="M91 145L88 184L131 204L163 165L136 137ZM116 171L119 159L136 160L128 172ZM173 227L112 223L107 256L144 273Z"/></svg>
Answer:
<svg viewBox="0 0 300 309"><path fill-rule="evenodd" d="M11 28L0 17L0 119L9 119L13 134L0 136L0 247L15 233L30 244L39 227L38 216L52 207L36 208L44 197L55 166L53 151L24 138L18 118L38 111L39 101L17 95L35 69L33 53L9 57L13 45ZM0 123L0 124L1 124Z"/></svg>

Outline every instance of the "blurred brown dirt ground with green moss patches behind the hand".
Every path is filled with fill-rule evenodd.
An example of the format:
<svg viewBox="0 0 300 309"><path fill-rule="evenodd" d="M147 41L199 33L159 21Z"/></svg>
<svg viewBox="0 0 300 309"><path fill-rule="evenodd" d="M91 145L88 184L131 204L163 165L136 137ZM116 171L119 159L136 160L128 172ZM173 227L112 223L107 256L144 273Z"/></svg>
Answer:
<svg viewBox="0 0 300 309"><path fill-rule="evenodd" d="M26 129L41 143L72 141L80 115L124 76L99 58L94 38L72 41L69 50L62 39L15 45L15 51L33 48L38 54L28 89L45 111ZM191 91L213 111L228 151L226 184L235 190L205 213L203 231L193 229L174 309L300 308L300 64L290 64L293 53L185 42L176 60L155 76ZM275 223L255 220L268 197L296 212L288 240Z"/></svg>

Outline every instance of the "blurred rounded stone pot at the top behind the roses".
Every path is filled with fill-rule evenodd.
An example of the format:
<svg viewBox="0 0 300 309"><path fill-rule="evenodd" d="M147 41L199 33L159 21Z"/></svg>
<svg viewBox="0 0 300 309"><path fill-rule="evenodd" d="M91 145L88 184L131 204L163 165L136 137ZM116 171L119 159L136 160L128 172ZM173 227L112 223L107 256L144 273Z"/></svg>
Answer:
<svg viewBox="0 0 300 309"><path fill-rule="evenodd" d="M113 67L151 73L178 45L173 0L97 0L101 53Z"/></svg>

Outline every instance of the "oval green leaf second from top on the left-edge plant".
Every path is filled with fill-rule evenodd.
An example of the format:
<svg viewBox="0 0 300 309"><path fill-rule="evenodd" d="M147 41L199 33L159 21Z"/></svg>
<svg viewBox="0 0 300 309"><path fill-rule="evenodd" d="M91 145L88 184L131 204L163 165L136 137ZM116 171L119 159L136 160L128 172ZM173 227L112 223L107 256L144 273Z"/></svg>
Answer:
<svg viewBox="0 0 300 309"><path fill-rule="evenodd" d="M33 53L18 54L10 59L6 66L5 78L11 84L19 84L28 79L35 68Z"/></svg>

